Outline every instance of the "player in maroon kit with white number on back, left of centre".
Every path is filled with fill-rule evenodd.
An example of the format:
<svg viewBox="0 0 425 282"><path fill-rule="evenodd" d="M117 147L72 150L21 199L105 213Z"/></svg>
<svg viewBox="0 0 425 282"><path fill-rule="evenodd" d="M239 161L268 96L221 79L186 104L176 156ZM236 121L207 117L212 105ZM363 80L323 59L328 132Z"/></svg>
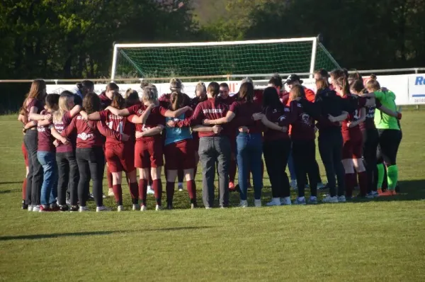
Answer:
<svg viewBox="0 0 425 282"><path fill-rule="evenodd" d="M113 92L111 107L122 109L125 107L125 99L118 91ZM85 117L85 113L81 113ZM108 169L112 173L113 194L117 203L117 210L123 211L123 171L128 178L130 195L132 198L132 210L139 210L139 190L137 186L137 172L135 169L135 140L132 137L135 127L130 120L120 115L114 115L108 109L87 115L88 120L101 120L109 129L128 135L128 140L116 140L114 137L106 137L105 157Z"/></svg>

